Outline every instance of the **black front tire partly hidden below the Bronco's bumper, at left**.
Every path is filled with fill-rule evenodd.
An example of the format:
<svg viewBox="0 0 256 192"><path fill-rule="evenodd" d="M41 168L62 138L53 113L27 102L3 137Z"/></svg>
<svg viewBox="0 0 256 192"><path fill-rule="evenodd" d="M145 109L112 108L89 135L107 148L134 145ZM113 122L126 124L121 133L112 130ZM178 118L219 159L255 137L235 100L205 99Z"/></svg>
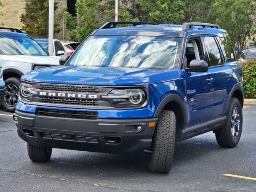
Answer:
<svg viewBox="0 0 256 192"><path fill-rule="evenodd" d="M28 144L28 157L33 162L47 162L52 155L52 148L37 147Z"/></svg>

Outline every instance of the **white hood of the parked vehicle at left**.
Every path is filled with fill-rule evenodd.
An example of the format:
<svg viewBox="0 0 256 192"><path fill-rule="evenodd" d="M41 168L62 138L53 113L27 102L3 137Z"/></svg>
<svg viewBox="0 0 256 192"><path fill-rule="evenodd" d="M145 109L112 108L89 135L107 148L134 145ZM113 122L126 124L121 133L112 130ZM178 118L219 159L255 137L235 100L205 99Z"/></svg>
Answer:
<svg viewBox="0 0 256 192"><path fill-rule="evenodd" d="M35 55L1 55L2 60L34 63L34 64L59 64L60 57L56 56L35 56Z"/></svg>

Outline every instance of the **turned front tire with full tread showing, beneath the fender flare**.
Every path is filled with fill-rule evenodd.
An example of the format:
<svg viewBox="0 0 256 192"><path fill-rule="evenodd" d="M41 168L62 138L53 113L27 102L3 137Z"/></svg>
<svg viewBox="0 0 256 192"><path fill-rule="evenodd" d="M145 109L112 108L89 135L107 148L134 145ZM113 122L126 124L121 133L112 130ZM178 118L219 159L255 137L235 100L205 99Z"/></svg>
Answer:
<svg viewBox="0 0 256 192"><path fill-rule="evenodd" d="M168 173L172 166L175 144L175 114L162 110L158 117L152 141L152 155L149 170L154 173Z"/></svg>

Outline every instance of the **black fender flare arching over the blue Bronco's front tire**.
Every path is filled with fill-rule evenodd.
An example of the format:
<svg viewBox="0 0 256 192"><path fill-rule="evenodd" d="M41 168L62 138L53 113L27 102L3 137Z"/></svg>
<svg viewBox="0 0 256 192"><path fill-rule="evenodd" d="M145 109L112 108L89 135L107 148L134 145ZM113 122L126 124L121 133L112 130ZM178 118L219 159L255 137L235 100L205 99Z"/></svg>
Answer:
<svg viewBox="0 0 256 192"><path fill-rule="evenodd" d="M184 129L187 124L186 106L185 106L185 103L180 98L180 96L178 96L177 94L169 94L165 96L164 99L158 105L156 112L154 114L154 117L158 117L161 111L163 110L164 106L166 106L166 104L168 104L169 102L176 102L179 105L182 116L183 116L183 119L181 119L182 129Z"/></svg>

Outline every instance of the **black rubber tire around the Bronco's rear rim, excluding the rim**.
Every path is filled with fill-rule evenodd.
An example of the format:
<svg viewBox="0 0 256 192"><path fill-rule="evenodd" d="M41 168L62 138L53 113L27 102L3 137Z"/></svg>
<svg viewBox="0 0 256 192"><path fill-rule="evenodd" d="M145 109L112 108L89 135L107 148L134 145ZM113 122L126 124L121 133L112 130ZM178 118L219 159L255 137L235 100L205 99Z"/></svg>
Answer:
<svg viewBox="0 0 256 192"><path fill-rule="evenodd" d="M238 108L239 113L240 113L240 128L238 131L238 135L234 138L232 136L232 112L234 110L234 108ZM227 147L227 148L232 148L235 147L241 137L241 133L242 133L242 125L243 125L243 114L242 114L242 106L240 104L240 102L238 101L238 99L236 98L231 98L230 103L228 105L228 110L226 112L226 122L224 124L224 127L217 130L215 132L215 136L216 136L216 140L218 142L218 144L221 147Z"/></svg>

